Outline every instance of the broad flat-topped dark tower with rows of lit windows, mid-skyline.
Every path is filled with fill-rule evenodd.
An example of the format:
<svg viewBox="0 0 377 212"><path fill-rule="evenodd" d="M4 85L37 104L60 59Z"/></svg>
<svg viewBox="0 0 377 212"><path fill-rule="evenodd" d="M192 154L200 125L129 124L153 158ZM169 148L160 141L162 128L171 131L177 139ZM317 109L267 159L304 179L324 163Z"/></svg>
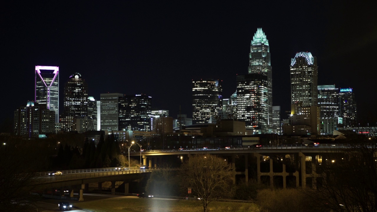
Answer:
<svg viewBox="0 0 377 212"><path fill-rule="evenodd" d="M208 123L222 110L222 81L192 81L192 117L194 124Z"/></svg>

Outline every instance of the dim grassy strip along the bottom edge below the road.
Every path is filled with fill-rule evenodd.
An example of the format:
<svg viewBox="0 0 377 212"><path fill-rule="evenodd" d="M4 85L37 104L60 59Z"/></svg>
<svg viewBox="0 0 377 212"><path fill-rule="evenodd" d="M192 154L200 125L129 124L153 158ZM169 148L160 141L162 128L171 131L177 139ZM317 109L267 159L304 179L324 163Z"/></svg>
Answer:
<svg viewBox="0 0 377 212"><path fill-rule="evenodd" d="M159 200L146 198L114 197L95 201L83 201L75 203L75 206L92 212L201 212L201 201L189 200ZM234 203L213 201L208 211L216 212L257 212L257 206L253 203Z"/></svg>

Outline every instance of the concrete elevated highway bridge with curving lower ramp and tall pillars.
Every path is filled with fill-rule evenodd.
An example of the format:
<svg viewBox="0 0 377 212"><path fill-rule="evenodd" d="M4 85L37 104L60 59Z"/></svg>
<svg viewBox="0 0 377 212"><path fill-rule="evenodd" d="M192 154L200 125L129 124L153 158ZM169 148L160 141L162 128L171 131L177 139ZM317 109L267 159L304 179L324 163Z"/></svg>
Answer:
<svg viewBox="0 0 377 212"><path fill-rule="evenodd" d="M216 154L228 160L232 165L234 183L236 183L236 179L244 179L248 183L249 175L253 177L251 173L256 172L257 182L267 182L271 187L277 186L276 184L279 183L276 182L280 182L280 187L286 188L287 181L290 184L293 182L295 187L305 187L308 182L309 186L315 186L316 178L313 178L313 174L315 174L316 164L322 163L322 160L326 160L326 153L344 151L349 148L348 144L322 144L316 147L280 145L226 149L208 149L207 147L202 147L199 149L144 150L141 152L130 152L130 157L133 160L139 160L142 157L143 164L149 164L150 169L126 167L124 171L116 171L115 167L113 167L65 170L61 171L62 175L53 177L49 175L50 172L38 172L35 173L35 180L37 180L38 189L45 191L58 188L60 191L68 190L70 197L73 197L74 190L78 189L79 200L83 200L83 192L89 183L98 183L98 190L101 190L102 183L110 181L112 184L112 193L115 194L115 182L121 181L124 182L124 191L128 194L129 183L158 169L164 157L176 155L184 161L188 160L192 154ZM128 157L128 154L126 156ZM276 158L281 158L281 160L276 161ZM292 163L286 163L288 158L290 161L294 161L294 167L288 168L288 166L292 166ZM240 167L236 163L242 164L241 166L243 167ZM276 166L273 166L273 164L278 164L280 168L276 169ZM61 192L61 194L64 195L64 192Z"/></svg>

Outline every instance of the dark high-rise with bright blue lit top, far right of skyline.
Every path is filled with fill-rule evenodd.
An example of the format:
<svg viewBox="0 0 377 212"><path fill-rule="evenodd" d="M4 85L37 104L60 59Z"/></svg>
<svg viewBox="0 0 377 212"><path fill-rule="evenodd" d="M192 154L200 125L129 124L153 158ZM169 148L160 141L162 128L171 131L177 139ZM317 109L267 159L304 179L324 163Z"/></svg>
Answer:
<svg viewBox="0 0 377 212"><path fill-rule="evenodd" d="M340 88L339 91L339 124L343 127L357 126L357 107L352 88Z"/></svg>

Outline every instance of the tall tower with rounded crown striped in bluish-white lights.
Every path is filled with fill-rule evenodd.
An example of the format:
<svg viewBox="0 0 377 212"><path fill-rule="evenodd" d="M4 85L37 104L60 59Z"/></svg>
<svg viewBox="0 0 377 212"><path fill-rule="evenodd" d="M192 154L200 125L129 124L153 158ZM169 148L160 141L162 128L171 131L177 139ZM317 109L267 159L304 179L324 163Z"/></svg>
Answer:
<svg viewBox="0 0 377 212"><path fill-rule="evenodd" d="M317 91L317 58L310 52L298 52L291 59L291 104L302 103L303 107L316 106Z"/></svg>

